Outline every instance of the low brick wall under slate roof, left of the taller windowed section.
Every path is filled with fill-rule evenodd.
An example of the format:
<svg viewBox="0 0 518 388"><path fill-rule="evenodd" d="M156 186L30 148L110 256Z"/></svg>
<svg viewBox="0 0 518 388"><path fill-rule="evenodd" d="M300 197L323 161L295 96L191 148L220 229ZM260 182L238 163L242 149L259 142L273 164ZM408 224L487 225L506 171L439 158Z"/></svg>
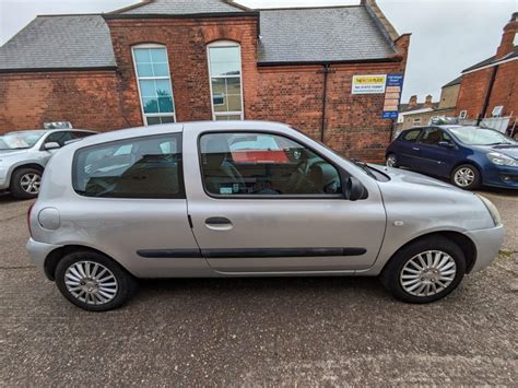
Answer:
<svg viewBox="0 0 518 388"><path fill-rule="evenodd" d="M99 131L127 127L115 71L0 74L0 133L48 121Z"/></svg>

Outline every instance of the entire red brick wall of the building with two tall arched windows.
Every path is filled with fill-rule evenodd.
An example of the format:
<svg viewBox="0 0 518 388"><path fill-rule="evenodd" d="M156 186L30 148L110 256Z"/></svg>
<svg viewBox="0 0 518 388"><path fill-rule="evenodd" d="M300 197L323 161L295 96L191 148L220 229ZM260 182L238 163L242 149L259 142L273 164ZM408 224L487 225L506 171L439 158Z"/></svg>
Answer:
<svg viewBox="0 0 518 388"><path fill-rule="evenodd" d="M68 120L75 128L109 130L143 125L131 47L167 47L178 121L212 118L207 44L242 46L246 119L287 122L320 139L323 74L320 66L258 67L257 20L107 20L118 72L0 74L0 132ZM328 78L325 141L340 153L380 161L392 121L380 118L384 95L352 95L354 74L404 72L410 36L397 40L402 55L385 63L334 66Z"/></svg>

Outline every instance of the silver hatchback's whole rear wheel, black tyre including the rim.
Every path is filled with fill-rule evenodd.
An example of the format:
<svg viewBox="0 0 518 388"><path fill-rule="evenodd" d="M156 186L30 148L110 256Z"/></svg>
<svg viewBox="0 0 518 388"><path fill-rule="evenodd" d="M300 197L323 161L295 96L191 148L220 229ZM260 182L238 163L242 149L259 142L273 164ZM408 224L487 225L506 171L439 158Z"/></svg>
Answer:
<svg viewBox="0 0 518 388"><path fill-rule="evenodd" d="M66 255L56 267L61 294L89 311L107 311L133 295L134 278L108 257L89 250Z"/></svg>

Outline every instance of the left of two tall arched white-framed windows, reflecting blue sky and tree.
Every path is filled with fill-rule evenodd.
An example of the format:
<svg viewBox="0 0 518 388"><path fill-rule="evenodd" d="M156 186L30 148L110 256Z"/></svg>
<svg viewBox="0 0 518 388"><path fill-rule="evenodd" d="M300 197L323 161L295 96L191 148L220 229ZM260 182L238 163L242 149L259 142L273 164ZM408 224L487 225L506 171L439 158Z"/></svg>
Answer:
<svg viewBox="0 0 518 388"><path fill-rule="evenodd" d="M145 44L133 46L132 54L144 125L175 122L175 102L166 48Z"/></svg>

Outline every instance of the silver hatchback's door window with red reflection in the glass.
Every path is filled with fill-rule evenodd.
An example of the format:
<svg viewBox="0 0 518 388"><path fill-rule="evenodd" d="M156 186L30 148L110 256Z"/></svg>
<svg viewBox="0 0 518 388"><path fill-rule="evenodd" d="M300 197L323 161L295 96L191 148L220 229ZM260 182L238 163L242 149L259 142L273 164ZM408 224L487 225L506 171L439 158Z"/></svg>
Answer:
<svg viewBox="0 0 518 388"><path fill-rule="evenodd" d="M310 196L341 192L338 169L291 139L271 133L200 138L205 190L220 196Z"/></svg>

